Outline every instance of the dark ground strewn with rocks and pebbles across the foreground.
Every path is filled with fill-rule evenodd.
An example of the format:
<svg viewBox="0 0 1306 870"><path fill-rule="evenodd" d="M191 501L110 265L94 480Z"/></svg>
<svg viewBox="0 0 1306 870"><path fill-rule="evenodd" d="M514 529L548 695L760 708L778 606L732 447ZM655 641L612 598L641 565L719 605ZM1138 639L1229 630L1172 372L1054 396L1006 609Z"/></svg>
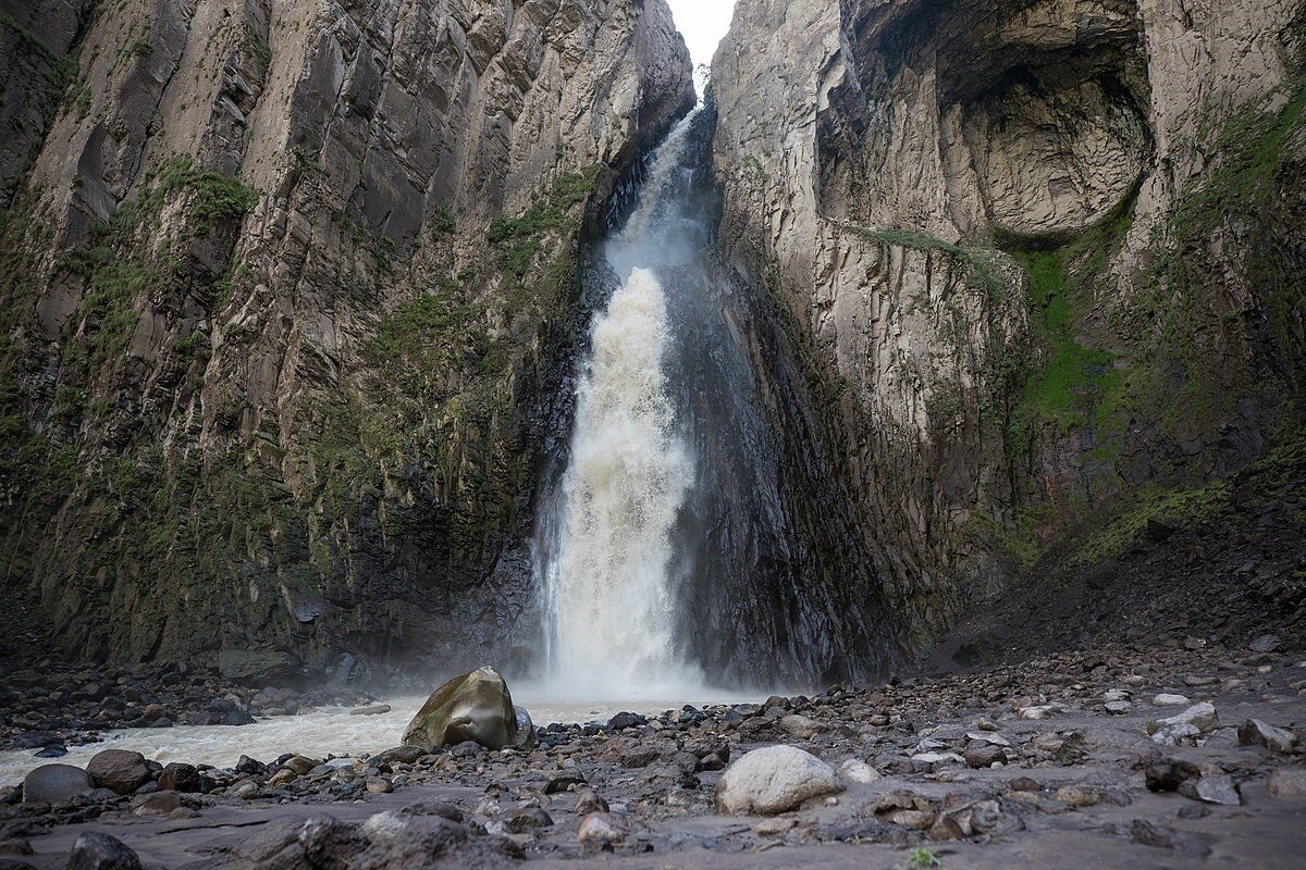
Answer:
<svg viewBox="0 0 1306 870"><path fill-rule="evenodd" d="M93 781L5 794L0 854L37 867L1286 866L1306 849L1298 643L1121 644L622 715L550 725L530 753L465 743L212 770L108 751Z"/></svg>

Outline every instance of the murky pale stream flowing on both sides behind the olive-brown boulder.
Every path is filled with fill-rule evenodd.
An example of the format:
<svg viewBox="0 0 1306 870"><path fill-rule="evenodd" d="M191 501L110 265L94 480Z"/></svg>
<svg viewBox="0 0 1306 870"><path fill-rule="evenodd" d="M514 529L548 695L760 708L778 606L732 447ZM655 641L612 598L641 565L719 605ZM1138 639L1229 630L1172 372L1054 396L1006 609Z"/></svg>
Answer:
<svg viewBox="0 0 1306 870"><path fill-rule="evenodd" d="M360 753L379 753L398 746L413 715L426 700L424 697L394 698L385 703L390 712L371 716L353 716L346 708L325 708L299 716L260 719L252 725L175 725L172 728L127 728L104 732L99 743L69 746L63 758L37 758L34 749L0 753L0 785L13 785L27 771L42 764L60 763L85 767L91 755L102 749L129 749L159 763L187 762L231 767L242 755L270 762L285 753L299 753L312 758L326 755L349 757ZM513 700L530 711L537 725L550 723L607 721L620 711L635 713L661 713L679 710L686 703L734 703L756 698L716 695L688 695L674 699L614 700L552 700L529 689L515 693Z"/></svg>

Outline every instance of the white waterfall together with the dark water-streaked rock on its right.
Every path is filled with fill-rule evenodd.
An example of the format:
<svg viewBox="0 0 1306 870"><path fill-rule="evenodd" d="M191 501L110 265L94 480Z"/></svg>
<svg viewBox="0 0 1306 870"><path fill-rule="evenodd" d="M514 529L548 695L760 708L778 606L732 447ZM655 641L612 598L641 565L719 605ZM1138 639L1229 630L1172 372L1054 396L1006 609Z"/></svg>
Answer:
<svg viewBox="0 0 1306 870"><path fill-rule="evenodd" d="M784 330L712 254L709 112L667 136L586 275L610 297L537 515L552 697L806 687L888 657Z"/></svg>

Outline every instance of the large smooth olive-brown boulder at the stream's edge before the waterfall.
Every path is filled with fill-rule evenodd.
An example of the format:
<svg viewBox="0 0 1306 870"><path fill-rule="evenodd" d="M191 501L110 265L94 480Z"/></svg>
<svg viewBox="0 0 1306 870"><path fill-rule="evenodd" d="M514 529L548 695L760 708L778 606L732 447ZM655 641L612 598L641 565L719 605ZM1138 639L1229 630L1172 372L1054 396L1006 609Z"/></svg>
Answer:
<svg viewBox="0 0 1306 870"><path fill-rule="evenodd" d="M406 746L427 750L464 741L486 749L535 746L530 713L513 706L508 683L494 668L478 668L432 691L404 732Z"/></svg>

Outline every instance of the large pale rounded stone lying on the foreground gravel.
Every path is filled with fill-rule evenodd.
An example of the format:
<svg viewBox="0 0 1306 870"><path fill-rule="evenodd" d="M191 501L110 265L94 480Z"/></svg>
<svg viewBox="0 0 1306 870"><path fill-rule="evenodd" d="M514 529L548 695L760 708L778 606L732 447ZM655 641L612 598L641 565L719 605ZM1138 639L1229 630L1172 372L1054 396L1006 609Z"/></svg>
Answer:
<svg viewBox="0 0 1306 870"><path fill-rule="evenodd" d="M765 746L743 755L717 783L720 813L774 815L844 790L825 762L794 746Z"/></svg>

